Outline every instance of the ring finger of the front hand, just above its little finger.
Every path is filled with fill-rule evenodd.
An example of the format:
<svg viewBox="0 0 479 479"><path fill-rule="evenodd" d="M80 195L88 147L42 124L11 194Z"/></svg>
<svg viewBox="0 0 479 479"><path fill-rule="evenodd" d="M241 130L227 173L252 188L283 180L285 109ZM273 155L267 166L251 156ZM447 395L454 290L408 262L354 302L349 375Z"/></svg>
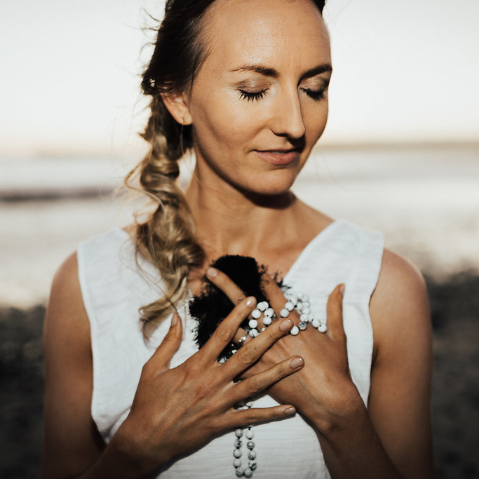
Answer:
<svg viewBox="0 0 479 479"><path fill-rule="evenodd" d="M304 359L301 356L295 356L294 358L281 361L281 363L237 383L234 386L234 397L232 400L234 403L238 403L238 401L244 398L255 396L255 394L263 391L263 389L283 379L283 377L299 371L303 366Z"/></svg>

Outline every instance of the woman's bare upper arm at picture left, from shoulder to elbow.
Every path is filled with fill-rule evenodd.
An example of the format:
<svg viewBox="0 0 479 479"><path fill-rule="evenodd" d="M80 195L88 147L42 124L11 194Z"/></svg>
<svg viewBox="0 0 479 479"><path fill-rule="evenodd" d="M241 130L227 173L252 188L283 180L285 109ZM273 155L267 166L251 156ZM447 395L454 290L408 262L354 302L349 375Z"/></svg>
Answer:
<svg viewBox="0 0 479 479"><path fill-rule="evenodd" d="M90 414L90 327L77 277L76 255L72 255L55 275L46 311L42 478L73 477L104 449Z"/></svg>

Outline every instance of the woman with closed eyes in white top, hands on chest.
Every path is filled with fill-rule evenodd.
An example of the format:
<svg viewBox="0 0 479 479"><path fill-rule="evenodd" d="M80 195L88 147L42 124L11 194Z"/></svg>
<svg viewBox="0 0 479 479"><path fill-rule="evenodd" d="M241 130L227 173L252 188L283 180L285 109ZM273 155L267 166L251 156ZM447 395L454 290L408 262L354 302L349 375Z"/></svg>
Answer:
<svg viewBox="0 0 479 479"><path fill-rule="evenodd" d="M142 82L151 151L137 169L158 208L136 229L83 243L55 276L43 477L432 475L424 281L383 252L380 234L290 193L328 116L322 10L167 2ZM188 148L196 167L183 196ZM288 335L293 310L245 336L256 299L208 269L224 254L255 257L308 293L328 331ZM187 304L205 271L238 305L196 351ZM268 275L264 290L279 318L283 292ZM231 340L241 349L218 363ZM248 432L248 448L234 431Z"/></svg>

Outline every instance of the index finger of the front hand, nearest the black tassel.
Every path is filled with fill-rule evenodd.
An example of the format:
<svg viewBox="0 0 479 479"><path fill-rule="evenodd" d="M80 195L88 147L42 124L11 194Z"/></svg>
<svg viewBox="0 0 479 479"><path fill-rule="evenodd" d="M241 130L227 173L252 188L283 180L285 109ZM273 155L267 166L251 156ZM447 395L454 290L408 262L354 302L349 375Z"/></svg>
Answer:
<svg viewBox="0 0 479 479"><path fill-rule="evenodd" d="M213 332L203 348L198 351L198 354L200 356L202 354L205 355L207 360L211 358L216 360L221 351L223 351L234 338L241 323L243 323L246 316L248 316L255 306L256 299L253 296L247 297L237 304L233 311L217 326L215 332Z"/></svg>

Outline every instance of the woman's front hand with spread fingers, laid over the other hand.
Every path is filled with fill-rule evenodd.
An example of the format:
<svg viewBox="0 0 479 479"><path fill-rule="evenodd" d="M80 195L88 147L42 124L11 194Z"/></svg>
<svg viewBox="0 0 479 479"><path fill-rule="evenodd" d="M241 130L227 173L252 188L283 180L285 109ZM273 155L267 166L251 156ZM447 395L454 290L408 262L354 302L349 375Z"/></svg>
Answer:
<svg viewBox="0 0 479 479"><path fill-rule="evenodd" d="M138 475L158 470L217 434L240 426L281 419L295 413L291 405L236 410L234 405L302 368L293 356L241 382L234 379L287 334L292 321L278 321L252 339L226 363L217 357L254 309L254 297L243 299L197 353L170 369L180 347L182 325L175 313L170 330L144 365L133 405L109 447L116 447Z"/></svg>

